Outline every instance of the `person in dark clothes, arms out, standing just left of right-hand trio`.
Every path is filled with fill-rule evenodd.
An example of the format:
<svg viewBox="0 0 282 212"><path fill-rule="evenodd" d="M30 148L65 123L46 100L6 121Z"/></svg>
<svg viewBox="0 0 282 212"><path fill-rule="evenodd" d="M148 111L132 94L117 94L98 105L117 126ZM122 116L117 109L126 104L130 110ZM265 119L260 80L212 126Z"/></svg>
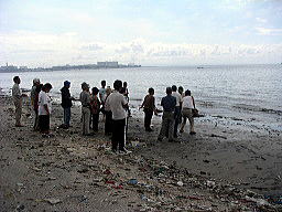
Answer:
<svg viewBox="0 0 282 212"><path fill-rule="evenodd" d="M151 128L151 119L153 117L153 113L155 115L156 114L156 108L155 108L155 104L154 104L154 88L150 87L148 91L148 95L145 96L142 105L140 106L140 108L144 108L144 127L145 127L145 131L153 131L153 129Z"/></svg>

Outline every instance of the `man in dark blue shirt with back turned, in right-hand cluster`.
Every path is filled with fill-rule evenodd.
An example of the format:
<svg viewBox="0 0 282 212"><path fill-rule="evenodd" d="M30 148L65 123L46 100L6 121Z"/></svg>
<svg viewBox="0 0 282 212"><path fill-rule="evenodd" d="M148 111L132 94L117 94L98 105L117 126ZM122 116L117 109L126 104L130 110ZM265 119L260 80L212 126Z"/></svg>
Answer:
<svg viewBox="0 0 282 212"><path fill-rule="evenodd" d="M161 106L163 106L162 128L158 137L159 141L163 140L164 135L169 131L169 141L173 140L174 126L174 110L176 106L176 98L172 96L172 88L166 87L166 96L162 98Z"/></svg>

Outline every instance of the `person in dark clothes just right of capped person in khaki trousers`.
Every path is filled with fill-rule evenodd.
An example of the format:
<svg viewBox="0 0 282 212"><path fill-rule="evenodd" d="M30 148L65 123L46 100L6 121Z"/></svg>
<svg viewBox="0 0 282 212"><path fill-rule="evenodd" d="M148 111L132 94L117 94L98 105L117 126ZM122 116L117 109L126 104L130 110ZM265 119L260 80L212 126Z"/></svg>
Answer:
<svg viewBox="0 0 282 212"><path fill-rule="evenodd" d="M98 98L98 93L99 93L99 89L97 87L94 87L93 95L90 98L94 131L98 131L99 112L100 112L100 105L101 105Z"/></svg>

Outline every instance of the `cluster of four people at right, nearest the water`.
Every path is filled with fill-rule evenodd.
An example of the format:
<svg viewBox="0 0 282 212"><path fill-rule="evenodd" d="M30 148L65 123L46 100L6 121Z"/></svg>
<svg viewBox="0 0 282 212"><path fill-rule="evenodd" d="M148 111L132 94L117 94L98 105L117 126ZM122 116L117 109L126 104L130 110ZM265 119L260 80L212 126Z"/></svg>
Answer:
<svg viewBox="0 0 282 212"><path fill-rule="evenodd" d="M140 108L144 110L144 127L147 131L153 131L151 128L151 119L153 114L158 115L160 112L155 107L154 89L151 87L148 91L148 95ZM194 116L193 109L195 109L194 97L191 96L191 91L184 93L182 86L166 87L166 96L162 98L161 106L163 107L162 127L159 134L158 140L162 140L165 137L169 141L174 141L178 137L178 125L181 124L180 132L184 132L184 127L187 119L189 120L189 134L195 135L194 130Z"/></svg>

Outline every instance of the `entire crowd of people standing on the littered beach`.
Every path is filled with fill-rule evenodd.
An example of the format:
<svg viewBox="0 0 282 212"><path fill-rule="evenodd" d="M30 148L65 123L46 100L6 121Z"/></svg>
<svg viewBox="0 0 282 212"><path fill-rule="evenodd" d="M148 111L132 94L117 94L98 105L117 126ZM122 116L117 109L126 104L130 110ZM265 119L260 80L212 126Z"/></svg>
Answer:
<svg viewBox="0 0 282 212"><path fill-rule="evenodd" d="M12 88L12 97L15 106L15 126L22 127L21 124L21 109L22 97L26 96L21 93L19 76L13 78L14 85ZM64 110L64 123L62 128L67 129L70 127L70 108L73 100L70 92L70 82L65 81L64 86L61 88L62 107ZM41 84L39 78L33 80L31 89L31 105L34 110L34 130L40 130L43 137L53 136L50 132L50 114L52 112L51 97L48 95L52 89L50 83ZM82 103L82 132L84 136L93 136L98 131L98 123L100 113L105 119L105 135L111 135L112 151L120 153L128 153L126 149L126 135L128 129L128 118L131 116L128 106L129 92L127 82L117 80L113 83L113 89L110 86L106 87L106 81L101 81L101 87L90 87L87 83L82 84L82 93L79 95ZM195 108L195 102L191 96L191 91L184 93L183 87L173 85L166 87L166 96L162 98L161 106L163 107L162 127L158 140L162 140L165 136L169 141L177 138L178 125L181 124L180 132L184 131L186 119L191 124L191 135L194 131L194 119L192 109ZM154 89L149 88L149 94L140 108L144 110L144 128L145 131L153 131L151 128L151 119L153 114L162 112L155 107ZM94 132L90 132L90 126Z"/></svg>

